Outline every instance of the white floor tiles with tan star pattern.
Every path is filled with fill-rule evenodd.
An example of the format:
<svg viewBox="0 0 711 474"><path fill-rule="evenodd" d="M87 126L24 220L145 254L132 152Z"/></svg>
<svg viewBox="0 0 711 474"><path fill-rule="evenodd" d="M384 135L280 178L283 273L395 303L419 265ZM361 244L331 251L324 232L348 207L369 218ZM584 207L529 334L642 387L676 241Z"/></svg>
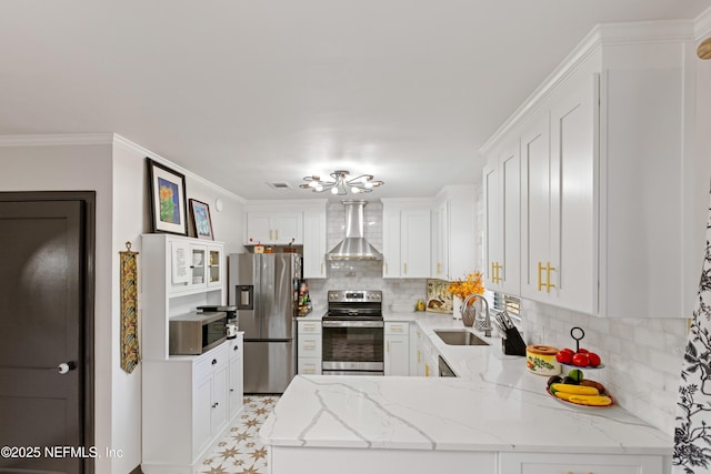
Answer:
<svg viewBox="0 0 711 474"><path fill-rule="evenodd" d="M278 400L246 396L242 414L196 474L267 474L268 451L259 442L259 428Z"/></svg>

